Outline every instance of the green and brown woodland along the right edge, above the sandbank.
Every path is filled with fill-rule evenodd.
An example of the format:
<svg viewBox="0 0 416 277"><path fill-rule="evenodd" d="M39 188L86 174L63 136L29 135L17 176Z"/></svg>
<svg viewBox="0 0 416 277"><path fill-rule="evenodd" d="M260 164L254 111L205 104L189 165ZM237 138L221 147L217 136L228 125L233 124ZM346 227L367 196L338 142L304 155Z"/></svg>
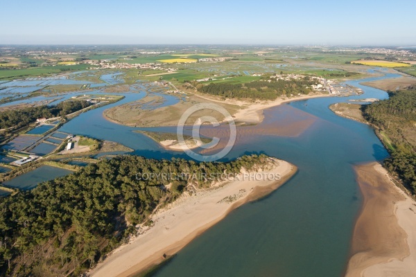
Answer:
<svg viewBox="0 0 416 277"><path fill-rule="evenodd" d="M416 192L416 90L389 92L388 100L381 100L363 106L365 118L378 127L383 139L387 134L391 157L385 159L385 166L395 172Z"/></svg>

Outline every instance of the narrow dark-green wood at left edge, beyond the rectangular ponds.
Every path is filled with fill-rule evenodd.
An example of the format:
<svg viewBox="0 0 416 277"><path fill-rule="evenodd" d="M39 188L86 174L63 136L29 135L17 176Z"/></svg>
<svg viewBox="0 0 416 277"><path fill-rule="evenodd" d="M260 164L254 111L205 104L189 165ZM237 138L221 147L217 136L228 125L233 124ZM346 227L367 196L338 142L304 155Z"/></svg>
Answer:
<svg viewBox="0 0 416 277"><path fill-rule="evenodd" d="M53 106L30 107L0 112L0 129L13 126L23 127L33 123L37 118L52 118L55 116L65 116L89 106L89 102L84 100L64 101Z"/></svg>

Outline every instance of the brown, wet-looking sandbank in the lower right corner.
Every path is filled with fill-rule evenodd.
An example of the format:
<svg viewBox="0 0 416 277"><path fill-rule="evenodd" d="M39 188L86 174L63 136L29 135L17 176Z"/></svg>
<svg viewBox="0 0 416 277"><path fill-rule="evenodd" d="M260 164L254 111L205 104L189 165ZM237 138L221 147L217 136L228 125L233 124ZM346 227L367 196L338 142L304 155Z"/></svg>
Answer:
<svg viewBox="0 0 416 277"><path fill-rule="evenodd" d="M379 163L355 170L364 202L346 276L416 276L415 201Z"/></svg>

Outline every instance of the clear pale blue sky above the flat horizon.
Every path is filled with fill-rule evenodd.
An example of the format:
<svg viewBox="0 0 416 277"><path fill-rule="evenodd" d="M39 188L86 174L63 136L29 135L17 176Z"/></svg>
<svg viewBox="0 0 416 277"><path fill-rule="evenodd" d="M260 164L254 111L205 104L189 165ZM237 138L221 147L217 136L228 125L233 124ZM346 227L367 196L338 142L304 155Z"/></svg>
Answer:
<svg viewBox="0 0 416 277"><path fill-rule="evenodd" d="M0 0L0 44L416 45L416 1Z"/></svg>

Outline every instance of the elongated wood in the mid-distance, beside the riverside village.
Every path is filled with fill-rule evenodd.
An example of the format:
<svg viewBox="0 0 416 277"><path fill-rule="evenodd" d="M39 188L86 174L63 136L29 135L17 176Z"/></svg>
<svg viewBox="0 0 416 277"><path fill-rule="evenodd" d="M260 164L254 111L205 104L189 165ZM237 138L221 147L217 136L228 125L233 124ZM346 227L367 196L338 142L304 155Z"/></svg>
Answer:
<svg viewBox="0 0 416 277"><path fill-rule="evenodd" d="M269 82L270 81L270 82ZM299 80L259 80L245 84L211 83L197 86L198 91L226 98L251 98L275 100L279 96L308 94L313 91L312 84L317 84L309 77Z"/></svg>

